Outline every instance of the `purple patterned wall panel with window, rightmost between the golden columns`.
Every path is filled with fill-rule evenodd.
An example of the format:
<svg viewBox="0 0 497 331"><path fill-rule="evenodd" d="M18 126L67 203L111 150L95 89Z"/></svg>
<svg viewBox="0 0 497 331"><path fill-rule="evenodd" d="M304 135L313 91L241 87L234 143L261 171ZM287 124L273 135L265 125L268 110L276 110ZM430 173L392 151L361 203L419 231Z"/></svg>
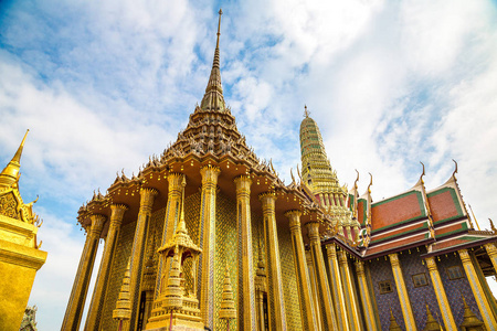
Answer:
<svg viewBox="0 0 497 331"><path fill-rule="evenodd" d="M452 313L454 314L454 320L457 325L463 322L464 319L464 306L462 296L466 299L467 305L470 310L476 314L476 317L482 320L482 314L478 310L478 305L475 301L473 291L469 282L467 281L466 274L464 273L463 264L458 255L454 253L443 255L436 258L436 265L438 266L440 277L444 284L445 292L447 293L447 300L451 305ZM448 279L447 268L458 266L463 273L463 278L459 279Z"/></svg>

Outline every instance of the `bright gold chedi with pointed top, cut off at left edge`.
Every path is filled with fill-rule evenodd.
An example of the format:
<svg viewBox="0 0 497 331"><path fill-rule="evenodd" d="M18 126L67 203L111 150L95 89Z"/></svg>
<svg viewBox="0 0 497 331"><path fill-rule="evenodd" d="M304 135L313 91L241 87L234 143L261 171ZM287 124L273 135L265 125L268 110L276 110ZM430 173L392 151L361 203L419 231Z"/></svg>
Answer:
<svg viewBox="0 0 497 331"><path fill-rule="evenodd" d="M19 330L36 271L46 252L36 242L40 217L19 192L21 154L28 132L0 173L0 330Z"/></svg>

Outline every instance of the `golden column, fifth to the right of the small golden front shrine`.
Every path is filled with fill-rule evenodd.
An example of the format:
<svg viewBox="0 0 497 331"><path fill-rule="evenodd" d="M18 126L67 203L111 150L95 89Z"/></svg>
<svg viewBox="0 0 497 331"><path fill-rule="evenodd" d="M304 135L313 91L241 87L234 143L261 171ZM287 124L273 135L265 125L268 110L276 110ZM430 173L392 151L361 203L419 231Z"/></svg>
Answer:
<svg viewBox="0 0 497 331"><path fill-rule="evenodd" d="M316 273L317 295L321 305L321 318L324 330L338 330L337 319L334 311L334 302L329 291L328 276L325 269L325 258L322 257L321 241L319 239L319 223L307 223L307 235L310 242L310 254Z"/></svg>

